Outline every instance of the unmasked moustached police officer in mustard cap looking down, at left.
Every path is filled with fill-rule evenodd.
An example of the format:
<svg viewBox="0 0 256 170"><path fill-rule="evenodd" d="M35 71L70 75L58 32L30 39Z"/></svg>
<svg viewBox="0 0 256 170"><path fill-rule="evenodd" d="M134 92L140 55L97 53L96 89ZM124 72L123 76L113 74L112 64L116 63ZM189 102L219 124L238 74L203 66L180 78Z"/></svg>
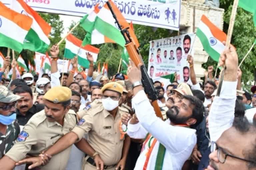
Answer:
<svg viewBox="0 0 256 170"><path fill-rule="evenodd" d="M0 160L0 169L13 169L26 155L38 156L68 133L77 123L76 113L69 110L71 90L53 87L44 95L45 109L33 115L20 132L14 146ZM65 169L71 147L54 155L41 170Z"/></svg>

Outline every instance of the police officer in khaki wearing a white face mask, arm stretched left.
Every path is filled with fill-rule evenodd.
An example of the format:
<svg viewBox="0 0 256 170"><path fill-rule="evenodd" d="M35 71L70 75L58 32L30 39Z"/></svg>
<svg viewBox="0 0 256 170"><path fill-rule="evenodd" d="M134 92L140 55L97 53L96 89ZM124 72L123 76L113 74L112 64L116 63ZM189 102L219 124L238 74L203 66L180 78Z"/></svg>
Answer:
<svg viewBox="0 0 256 170"><path fill-rule="evenodd" d="M99 166L101 170L124 169L130 138L125 136L126 129L122 129L121 115L124 111L118 107L122 100L123 87L111 82L103 86L102 92L102 105L90 109L76 127L45 154L57 154L81 140L84 134L88 134L89 148L87 147L87 156L84 159L85 170L95 170Z"/></svg>

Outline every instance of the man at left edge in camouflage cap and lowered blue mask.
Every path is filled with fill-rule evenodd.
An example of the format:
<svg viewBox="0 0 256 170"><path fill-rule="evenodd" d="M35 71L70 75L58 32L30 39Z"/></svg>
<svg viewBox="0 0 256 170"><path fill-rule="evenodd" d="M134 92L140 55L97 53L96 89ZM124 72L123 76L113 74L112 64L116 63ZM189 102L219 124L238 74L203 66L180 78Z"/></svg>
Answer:
<svg viewBox="0 0 256 170"><path fill-rule="evenodd" d="M10 150L20 132L20 127L15 121L18 99L20 96L10 93L5 86L0 86L0 158Z"/></svg>

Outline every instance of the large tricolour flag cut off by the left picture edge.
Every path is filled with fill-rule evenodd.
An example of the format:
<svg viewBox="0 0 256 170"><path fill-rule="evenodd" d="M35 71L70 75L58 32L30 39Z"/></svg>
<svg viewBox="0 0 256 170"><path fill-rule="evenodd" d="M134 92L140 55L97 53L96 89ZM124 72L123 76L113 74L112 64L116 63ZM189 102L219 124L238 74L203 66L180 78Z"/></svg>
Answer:
<svg viewBox="0 0 256 170"><path fill-rule="evenodd" d="M19 14L0 2L0 46L21 52L32 18Z"/></svg>

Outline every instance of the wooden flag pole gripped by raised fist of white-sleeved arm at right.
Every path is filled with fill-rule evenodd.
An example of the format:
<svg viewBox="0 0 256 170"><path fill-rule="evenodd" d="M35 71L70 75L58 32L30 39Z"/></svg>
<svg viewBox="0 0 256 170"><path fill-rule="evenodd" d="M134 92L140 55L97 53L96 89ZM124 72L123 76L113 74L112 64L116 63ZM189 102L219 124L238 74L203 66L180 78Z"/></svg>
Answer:
<svg viewBox="0 0 256 170"><path fill-rule="evenodd" d="M226 40L226 48L229 48L229 45L230 45L230 42L231 42L234 23L235 23L235 18L236 18L236 10L237 10L237 6L238 6L238 1L239 0L234 0L234 3L233 3L232 13L231 13L231 16L230 16L230 21L229 21L227 40ZM223 82L223 78L224 78L224 74L225 74L225 67L226 66L222 66L222 69L221 69L221 77L220 77L219 86L218 86L218 89L217 89L216 96L220 96L221 86L222 86L222 82Z"/></svg>

